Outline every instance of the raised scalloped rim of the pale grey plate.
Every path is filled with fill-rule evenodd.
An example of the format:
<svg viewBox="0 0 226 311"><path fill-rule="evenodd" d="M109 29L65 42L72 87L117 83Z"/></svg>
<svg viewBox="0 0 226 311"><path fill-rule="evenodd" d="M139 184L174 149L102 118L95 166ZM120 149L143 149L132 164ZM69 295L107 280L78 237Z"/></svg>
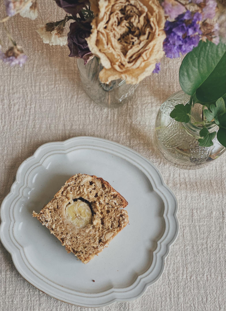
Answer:
<svg viewBox="0 0 226 311"><path fill-rule="evenodd" d="M151 166L151 168L155 171L156 173L156 176L150 176L151 179L152 179L152 187L153 187L153 191L155 191L156 193L158 193L158 195L162 198L163 202L164 202L164 212L166 210L166 205L165 203L167 202L167 198L164 196L164 193L161 191L161 188L162 190L165 189L168 193L168 195L171 196L171 198L173 199L174 201L174 206L171 207L171 205L169 205L169 207L172 209L171 211L171 216L175 222L175 225L174 225L174 230L173 230L173 234L171 232L171 237L169 237L169 232L167 232L165 238L162 240L162 237L165 235L166 233L166 229L167 229L167 226L165 226L165 230L164 230L164 233L162 235L162 237L158 240L158 243L157 243L157 248L156 250L158 249L158 245L160 245L160 249L156 252L156 250L153 252L153 255L154 253L156 252L159 253L160 250L161 250L161 247L162 247L162 244L165 240L167 240L167 237L169 238L169 241L166 243L166 251L165 253L163 253L161 255L161 262L162 262L162 265L161 265L161 268L159 269L159 272L158 272L158 275L151 281L149 282L144 282L143 286L142 286L142 289L139 290L139 293L137 293L135 296L133 295L132 297L127 297L127 298L120 298L120 297L117 297L117 293L118 291L116 290L122 290L122 289L125 289L125 288L129 288L131 286L127 286L127 287L123 287L123 288L120 288L120 289L117 289L117 288L111 288L110 290L112 290L112 292L110 294L106 294L106 295L103 295L103 296L100 296L100 297L97 297L97 298L101 298L101 297L106 297L106 296L109 296L111 295L112 293L116 294L115 297L111 298L109 301L102 301L102 302L99 302L99 303L96 303L95 306L94 304L92 303L84 303L84 304L78 304L76 303L75 301L68 301L68 299L61 299L59 297L57 297L56 295L54 295L54 293L51 293L50 291L44 289L41 287L40 289L40 286L37 286L37 284L35 282L32 282L32 280L28 280L27 277L26 277L26 273L25 271L23 271L23 268L21 267L21 262L19 262L18 260L18 256L21 256L21 250L20 248L22 248L21 246L18 247L18 242L16 241L17 245L15 243L13 243L13 240L11 239L11 236L10 236L10 230L13 229L13 222L15 222L14 218L12 215L9 215L9 219L10 219L10 223L6 221L5 219L5 215L3 214L4 213L4 207L5 207L5 204L7 203L7 200L10 200L11 197L13 197L13 195L15 197L18 197L19 195L19 192L17 193L16 191L18 190L17 189L17 186L21 183L20 181L20 178L23 176L24 174L24 180L25 180L25 177L26 177L26 173L31 169L32 166L35 165L35 167L37 166L38 163L40 163L40 161L44 158L44 156L48 153L48 152L45 152L44 155L42 154L43 151L45 151L45 149L47 148L50 148L50 153L53 154L54 151L57 151L56 149L53 149L54 145L57 146L66 146L67 144L69 145L70 143L73 144L74 147L76 147L77 145L79 146L79 140L83 141L83 145L88 145L88 142L91 143L91 141L95 141L96 144L92 145L93 147L97 146L98 150L101 150L100 146L98 145L103 143L104 145L110 145L110 146L116 146L120 149L122 149L125 154L126 152L128 152L129 154L133 154L134 156L137 156L138 158L140 158L141 160L145 161L145 163L149 166ZM85 141L85 142L84 142ZM80 144L81 145L81 144ZM59 148L60 149L60 148ZM64 148L64 153L67 153L69 152L68 150L70 149L70 147L68 148ZM92 149L92 148L91 148ZM104 149L108 149L106 146L104 147ZM59 150L58 150L59 151ZM63 151L63 149L60 149L60 151ZM103 151L103 150L102 150ZM119 156L120 152L117 150L115 152L115 155L116 156ZM124 156L125 156L124 154ZM29 166L28 168L26 167L27 164L29 162L32 162L32 160L36 159L36 163ZM45 160L45 159L44 159ZM125 160L128 160L127 158ZM43 162L42 162L43 163ZM146 168L146 171L148 172L148 169ZM144 173L144 172L143 172ZM147 176L147 174L145 174ZM29 176L29 174L28 174ZM149 179L149 178L148 178ZM157 180L158 179L158 180ZM149 179L150 180L150 179ZM26 188L26 183L22 183L22 186L23 187L25 185L25 188ZM19 189L20 190L20 189ZM14 193L15 192L15 193ZM166 202L165 200L163 199L163 197L165 197L166 199ZM168 203L168 202L167 202ZM10 205L10 208L9 208L9 214L10 212L12 212L12 210L14 209L14 206L11 204ZM11 254L12 256L12 260L13 260L13 263L17 269L17 271L26 279L26 281L28 281L30 284L32 284L33 286L35 286L37 289L43 291L44 293L46 293L47 295L50 295L58 300L61 300L61 301L64 301L64 302L67 302L67 303L70 303L70 304L74 304L74 305L78 305L78 306L82 306L82 307L88 307L88 308L97 308L97 307L103 307L103 306L106 306L106 305L109 305L109 304L112 304L114 302L126 302L126 301L132 301L134 299L137 299L139 298L140 296L142 296L144 294L144 292L147 290L148 286L152 285L153 283L155 283L159 278L160 276L162 275L163 271L164 271L164 266L165 266L165 259L167 258L168 254L169 254L169 251L170 251L170 248L172 246L172 244L175 242L175 240L177 239L177 236L179 234L179 222L178 222L178 218L177 218L177 211L178 211L178 202L177 202L177 198L175 196L175 194L172 192L172 190L165 184L164 182L164 179L162 177L162 174L159 172L159 170L157 169L157 167L150 161L148 160L147 158L145 158L144 156L140 155L137 151L134 151L133 149L127 147L127 146L124 146L120 143L117 143L117 142L114 142L114 141L111 141L111 140L108 140L108 139L104 139L104 138L99 138L99 137L92 137L92 136L77 136L77 137L72 137L72 138L69 138L67 140L64 140L64 141L56 141L56 142L47 142L45 144L42 144L41 146L39 146L36 151L33 153L32 156L28 157L26 160L24 160L21 165L19 166L19 168L17 169L17 172L16 172L16 179L14 181L14 183L12 184L11 186L11 189L10 189L10 192L7 194L7 196L3 199L2 201L2 204L1 204L1 209L0 209L0 215L1 215L1 225L0 225L0 239L2 241L2 244L3 246L7 249L7 251ZM167 213L169 213L169 209L167 209ZM165 216L167 216L168 214L166 214ZM12 216L12 217L11 217ZM164 213L163 213L163 217L164 217ZM164 220L166 222L166 218L164 217ZM169 219L168 219L169 220ZM8 224L8 230L6 232L5 230L5 225ZM7 229L7 228L6 228ZM4 231L5 230L5 231ZM7 234L8 236L10 237L10 242L11 242L11 245L8 244L9 240L7 241ZM12 232L11 232L12 234ZM159 242L160 241L160 242ZM23 248L22 248L23 249ZM22 256L19 258L22 260L22 262L25 264L25 262L23 261L23 258ZM153 259L154 259L154 256L153 256ZM153 262L152 262L153 263ZM26 265L26 264L25 264ZM156 263L155 263L156 265ZM151 266L146 270L146 272L152 267L152 264ZM155 266L154 266L155 267ZM33 273L31 270L30 270L31 273ZM134 283L136 283L136 281L138 280L139 277L141 277L142 275L144 275L146 272L142 273L141 275L139 275L137 277L137 279L132 283L132 285L134 285ZM148 275L150 275L151 273L149 273ZM34 274L33 274L34 275ZM148 276L147 275L147 276ZM145 276L145 277L147 277ZM142 277L141 277L141 280L142 280ZM140 281L139 281L140 282ZM130 292L135 290L138 285L139 285L139 282L137 285L135 285L135 288L132 289L132 290L129 290ZM35 284L34 284L35 283ZM51 286L51 285L50 285ZM107 290L109 291L109 290ZM102 293L106 293L107 291L102 291ZM77 292L78 293L78 292ZM98 293L99 294L99 293ZM98 294L94 294L94 296L97 296ZM76 295L77 296L77 295ZM99 296L99 295L98 295ZM87 299L87 297L83 297L84 299ZM95 299L93 297L89 297L89 299Z"/></svg>

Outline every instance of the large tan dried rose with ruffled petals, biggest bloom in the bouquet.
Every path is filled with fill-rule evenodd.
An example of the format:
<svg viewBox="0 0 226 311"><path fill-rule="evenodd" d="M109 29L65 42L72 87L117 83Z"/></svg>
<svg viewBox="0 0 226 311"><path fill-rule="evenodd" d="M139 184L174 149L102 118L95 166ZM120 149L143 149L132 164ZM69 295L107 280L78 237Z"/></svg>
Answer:
<svg viewBox="0 0 226 311"><path fill-rule="evenodd" d="M103 83L136 84L150 75L164 55L164 12L157 0L91 0L95 18L89 49L100 58Z"/></svg>

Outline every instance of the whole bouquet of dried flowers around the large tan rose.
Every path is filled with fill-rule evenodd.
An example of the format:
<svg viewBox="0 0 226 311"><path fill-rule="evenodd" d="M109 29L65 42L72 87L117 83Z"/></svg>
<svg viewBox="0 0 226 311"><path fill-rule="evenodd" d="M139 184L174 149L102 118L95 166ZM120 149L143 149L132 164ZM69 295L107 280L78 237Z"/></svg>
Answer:
<svg viewBox="0 0 226 311"><path fill-rule="evenodd" d="M66 12L65 18L40 25L37 32L46 44L68 44L69 56L82 59L88 68L86 84L92 77L105 91L113 90L115 86L130 85L129 91L120 97L122 100L131 95L145 77L160 71L160 60L164 55L178 58L190 53L200 40L211 41L215 45L220 40L226 41L225 2L220 1L223 2L55 0ZM6 31L7 20L15 14L31 19L38 14L37 0L5 0L5 5L8 16L2 22ZM70 30L65 35L68 22ZM0 50L0 58L11 66L21 66L27 58L8 31L7 35L12 46L6 52ZM95 75L92 75L92 67L88 65L93 58ZM80 63L82 75L81 66ZM134 87L131 88L131 85Z"/></svg>

